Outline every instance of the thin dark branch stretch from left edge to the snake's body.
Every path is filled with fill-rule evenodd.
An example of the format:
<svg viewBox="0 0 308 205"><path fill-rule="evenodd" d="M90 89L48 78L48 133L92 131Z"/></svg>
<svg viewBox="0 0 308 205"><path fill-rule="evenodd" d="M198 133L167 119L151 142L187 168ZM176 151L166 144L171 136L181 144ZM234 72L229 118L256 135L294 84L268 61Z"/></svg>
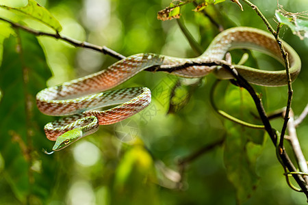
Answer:
<svg viewBox="0 0 308 205"><path fill-rule="evenodd" d="M31 29L29 27L25 27L23 25L20 25L19 23L14 23L10 20L7 20L5 18L1 18L0 20L3 20L7 23L10 23L10 25L12 25L12 27L18 27L19 29L23 29L24 31L27 31L28 33L32 33L34 34L34 36L49 36L52 38L56 38L56 39L60 39L63 40L65 42L68 42L69 44L75 46L75 47L81 47L81 48L86 48L86 49L92 49L94 51L99 51L105 55L110 55L116 59L123 59L125 58L124 55L120 55L120 53L116 53L116 51L113 51L112 49L107 48L106 46L97 46L94 44L90 44L89 42L81 42L72 38L68 38L66 36L62 36L60 35L60 33L47 33L47 32L43 32L43 31L36 31L34 29Z"/></svg>

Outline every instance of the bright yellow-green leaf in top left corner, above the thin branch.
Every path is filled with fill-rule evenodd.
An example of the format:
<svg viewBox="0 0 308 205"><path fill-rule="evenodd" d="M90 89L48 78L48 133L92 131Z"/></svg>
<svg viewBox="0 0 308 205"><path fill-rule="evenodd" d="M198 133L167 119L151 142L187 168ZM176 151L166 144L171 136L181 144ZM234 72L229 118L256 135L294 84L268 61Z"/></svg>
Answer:
<svg viewBox="0 0 308 205"><path fill-rule="evenodd" d="M30 18L34 18L35 20L44 23L48 27L51 27L57 32L62 30L60 23L51 15L51 13L46 9L43 8L41 5L36 3L34 0L29 0L28 4L21 8L10 8L6 5L0 5L0 8L5 10L9 10L16 14L24 14Z"/></svg>

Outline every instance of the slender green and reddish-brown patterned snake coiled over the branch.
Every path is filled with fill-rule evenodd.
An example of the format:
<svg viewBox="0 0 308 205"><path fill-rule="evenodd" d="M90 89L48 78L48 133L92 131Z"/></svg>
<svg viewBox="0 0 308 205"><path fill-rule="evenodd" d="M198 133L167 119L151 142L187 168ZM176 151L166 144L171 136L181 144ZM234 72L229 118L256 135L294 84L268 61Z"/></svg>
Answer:
<svg viewBox="0 0 308 205"><path fill-rule="evenodd" d="M294 81L300 72L300 57L292 46L281 42L288 54L290 77ZM198 57L139 53L125 57L94 74L41 90L36 95L38 109L46 115L64 116L44 126L47 138L55 141L53 151L49 153L62 150L78 139L91 135L98 130L99 125L120 122L147 107L151 103L151 90L147 87L112 90L142 70L191 62L223 61L226 53L233 49L259 51L274 57L281 64L284 62L281 49L270 33L252 27L233 27L219 33ZM261 70L238 64L232 66L249 83L261 86L287 85L285 70ZM205 77L209 73L213 73L218 79L234 78L222 66L194 65L166 72L184 78ZM112 108L104 109L106 107Z"/></svg>

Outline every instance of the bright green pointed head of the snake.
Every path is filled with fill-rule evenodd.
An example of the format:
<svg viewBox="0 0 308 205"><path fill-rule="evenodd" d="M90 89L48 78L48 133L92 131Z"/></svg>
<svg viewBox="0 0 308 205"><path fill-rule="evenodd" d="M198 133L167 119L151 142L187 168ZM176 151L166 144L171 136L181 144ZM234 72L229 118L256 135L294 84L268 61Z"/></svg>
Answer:
<svg viewBox="0 0 308 205"><path fill-rule="evenodd" d="M75 128L71 131L67 131L63 135L57 137L55 145L53 146L53 151L59 151L62 150L63 148L66 148L71 143L77 141L81 137L84 137L81 128Z"/></svg>

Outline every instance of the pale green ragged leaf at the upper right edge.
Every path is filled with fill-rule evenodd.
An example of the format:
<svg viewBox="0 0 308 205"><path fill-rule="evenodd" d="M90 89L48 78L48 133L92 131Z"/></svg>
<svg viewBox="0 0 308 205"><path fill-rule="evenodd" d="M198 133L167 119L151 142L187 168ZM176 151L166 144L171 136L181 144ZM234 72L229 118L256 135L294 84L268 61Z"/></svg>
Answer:
<svg viewBox="0 0 308 205"><path fill-rule="evenodd" d="M308 38L308 20L302 20L297 17L297 14L291 12L283 14L280 10L276 10L275 16L279 23L290 27L292 33L301 40Z"/></svg>

